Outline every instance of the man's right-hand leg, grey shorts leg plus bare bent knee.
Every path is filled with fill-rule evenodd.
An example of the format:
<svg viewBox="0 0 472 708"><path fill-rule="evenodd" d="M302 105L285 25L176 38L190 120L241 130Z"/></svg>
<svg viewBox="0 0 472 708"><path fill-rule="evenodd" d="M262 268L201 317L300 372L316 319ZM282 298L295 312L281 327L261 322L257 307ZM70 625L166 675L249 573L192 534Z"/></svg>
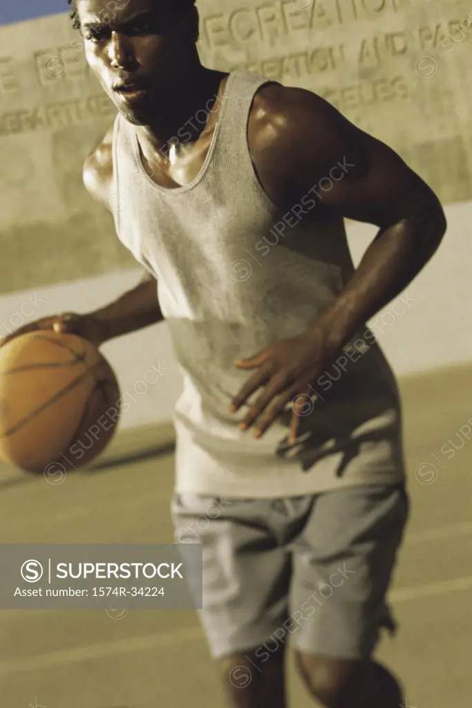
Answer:
<svg viewBox="0 0 472 708"><path fill-rule="evenodd" d="M403 486L364 486L316 497L293 544L290 602L296 661L326 708L399 708L402 691L372 653L387 622L408 497Z"/></svg>

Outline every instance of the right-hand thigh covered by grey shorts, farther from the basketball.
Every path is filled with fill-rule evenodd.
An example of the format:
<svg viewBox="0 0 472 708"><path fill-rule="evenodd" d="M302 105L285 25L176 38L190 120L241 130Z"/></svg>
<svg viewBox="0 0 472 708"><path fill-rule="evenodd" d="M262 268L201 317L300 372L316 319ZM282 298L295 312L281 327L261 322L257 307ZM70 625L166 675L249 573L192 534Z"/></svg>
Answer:
<svg viewBox="0 0 472 708"><path fill-rule="evenodd" d="M292 544L289 612L296 649L368 658L380 628L394 630L386 592L407 520L403 484L357 486L314 499Z"/></svg>

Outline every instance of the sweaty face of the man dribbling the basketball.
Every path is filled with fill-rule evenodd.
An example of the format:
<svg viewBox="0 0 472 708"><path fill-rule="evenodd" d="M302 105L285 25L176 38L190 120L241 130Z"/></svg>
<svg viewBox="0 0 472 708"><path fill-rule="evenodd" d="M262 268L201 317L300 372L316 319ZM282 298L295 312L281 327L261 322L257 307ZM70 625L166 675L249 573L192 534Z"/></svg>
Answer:
<svg viewBox="0 0 472 708"><path fill-rule="evenodd" d="M88 64L117 110L134 125L154 116L190 68L192 14L173 0L79 0ZM190 30L189 30L190 27Z"/></svg>

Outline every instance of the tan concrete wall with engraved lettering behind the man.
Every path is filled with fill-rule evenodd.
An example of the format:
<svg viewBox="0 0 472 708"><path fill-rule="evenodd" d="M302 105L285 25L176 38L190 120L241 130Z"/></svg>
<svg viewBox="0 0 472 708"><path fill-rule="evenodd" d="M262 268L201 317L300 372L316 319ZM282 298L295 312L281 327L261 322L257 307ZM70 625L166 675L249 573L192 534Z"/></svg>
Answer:
<svg viewBox="0 0 472 708"><path fill-rule="evenodd" d="M246 66L321 93L398 150L445 203L472 198L467 1L197 6L205 65ZM132 267L81 182L84 157L114 115L67 13L0 27L0 292Z"/></svg>

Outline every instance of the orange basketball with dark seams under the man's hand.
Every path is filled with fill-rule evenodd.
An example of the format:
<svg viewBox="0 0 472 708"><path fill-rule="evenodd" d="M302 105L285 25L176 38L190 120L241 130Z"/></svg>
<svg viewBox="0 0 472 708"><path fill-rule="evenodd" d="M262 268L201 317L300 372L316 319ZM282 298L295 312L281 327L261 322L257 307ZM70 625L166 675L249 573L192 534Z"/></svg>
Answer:
<svg viewBox="0 0 472 708"><path fill-rule="evenodd" d="M74 334L35 331L0 348L0 459L47 474L84 467L120 418L120 388L98 348Z"/></svg>

